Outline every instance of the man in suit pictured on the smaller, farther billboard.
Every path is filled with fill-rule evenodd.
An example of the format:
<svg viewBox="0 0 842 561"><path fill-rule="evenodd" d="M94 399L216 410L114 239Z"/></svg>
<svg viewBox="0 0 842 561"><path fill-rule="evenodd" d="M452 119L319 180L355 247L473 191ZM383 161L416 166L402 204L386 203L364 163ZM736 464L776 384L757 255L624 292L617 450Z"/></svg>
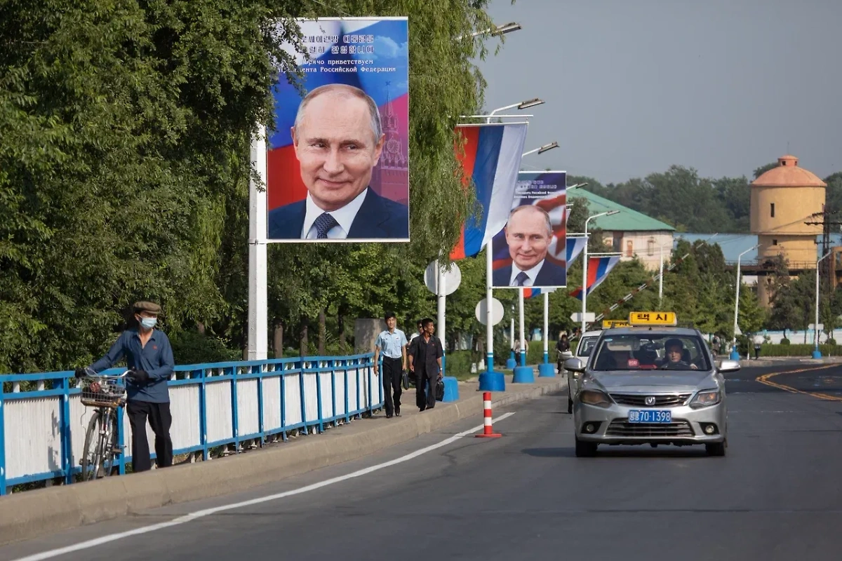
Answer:
<svg viewBox="0 0 842 561"><path fill-rule="evenodd" d="M512 210L504 232L512 264L493 272L493 286L550 288L567 283L565 267L546 259L553 234L545 210L531 204Z"/></svg>

